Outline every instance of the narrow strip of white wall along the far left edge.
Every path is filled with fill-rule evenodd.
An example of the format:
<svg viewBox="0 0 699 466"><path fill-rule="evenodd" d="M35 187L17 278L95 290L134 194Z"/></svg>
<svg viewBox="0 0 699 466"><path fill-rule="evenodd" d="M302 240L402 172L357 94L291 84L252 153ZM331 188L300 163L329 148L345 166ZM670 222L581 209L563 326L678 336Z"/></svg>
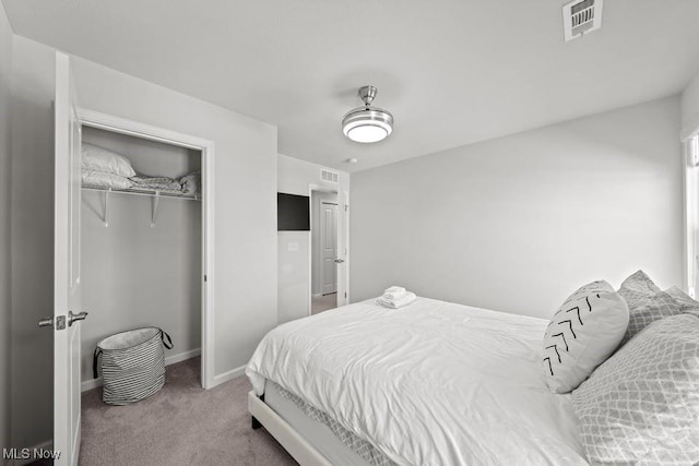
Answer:
<svg viewBox="0 0 699 466"><path fill-rule="evenodd" d="M10 82L12 28L0 3L0 449L10 444Z"/></svg>

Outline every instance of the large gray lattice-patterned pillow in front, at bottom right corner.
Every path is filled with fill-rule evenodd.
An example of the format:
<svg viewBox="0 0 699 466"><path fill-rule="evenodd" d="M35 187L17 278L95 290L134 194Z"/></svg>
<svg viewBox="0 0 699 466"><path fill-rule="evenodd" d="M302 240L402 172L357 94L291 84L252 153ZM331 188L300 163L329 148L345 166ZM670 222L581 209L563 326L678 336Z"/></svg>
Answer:
<svg viewBox="0 0 699 466"><path fill-rule="evenodd" d="M698 464L699 318L650 324L572 392L572 406L593 464Z"/></svg>

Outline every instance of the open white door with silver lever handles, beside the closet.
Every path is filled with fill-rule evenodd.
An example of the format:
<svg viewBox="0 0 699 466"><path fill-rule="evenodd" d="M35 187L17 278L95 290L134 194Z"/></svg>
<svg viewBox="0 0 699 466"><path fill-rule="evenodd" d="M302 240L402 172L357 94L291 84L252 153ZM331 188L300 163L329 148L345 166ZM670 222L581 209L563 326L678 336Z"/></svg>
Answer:
<svg viewBox="0 0 699 466"><path fill-rule="evenodd" d="M56 53L54 244L54 451L57 465L80 453L80 140L68 56ZM75 315L78 314L78 315Z"/></svg>

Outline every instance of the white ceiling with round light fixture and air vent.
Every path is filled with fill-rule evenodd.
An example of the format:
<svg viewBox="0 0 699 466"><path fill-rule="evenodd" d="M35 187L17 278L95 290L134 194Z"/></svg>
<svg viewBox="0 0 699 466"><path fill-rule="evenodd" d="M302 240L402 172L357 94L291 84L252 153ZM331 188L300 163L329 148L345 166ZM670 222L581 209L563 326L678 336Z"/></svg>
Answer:
<svg viewBox="0 0 699 466"><path fill-rule="evenodd" d="M677 94L699 69L697 0L607 0L568 44L565 0L2 2L16 34L276 124L281 153L347 171ZM372 145L340 129L365 84L395 117Z"/></svg>

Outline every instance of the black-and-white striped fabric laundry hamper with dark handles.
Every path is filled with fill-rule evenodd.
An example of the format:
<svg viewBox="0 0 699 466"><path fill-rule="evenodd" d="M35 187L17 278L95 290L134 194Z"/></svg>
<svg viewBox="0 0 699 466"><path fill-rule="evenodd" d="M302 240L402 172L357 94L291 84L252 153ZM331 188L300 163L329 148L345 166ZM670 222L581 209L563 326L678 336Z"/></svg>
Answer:
<svg viewBox="0 0 699 466"><path fill-rule="evenodd" d="M173 348L173 339L158 327L130 330L99 340L92 370L97 379L102 359L102 399L108 405L122 406L161 390L165 384L163 346Z"/></svg>

